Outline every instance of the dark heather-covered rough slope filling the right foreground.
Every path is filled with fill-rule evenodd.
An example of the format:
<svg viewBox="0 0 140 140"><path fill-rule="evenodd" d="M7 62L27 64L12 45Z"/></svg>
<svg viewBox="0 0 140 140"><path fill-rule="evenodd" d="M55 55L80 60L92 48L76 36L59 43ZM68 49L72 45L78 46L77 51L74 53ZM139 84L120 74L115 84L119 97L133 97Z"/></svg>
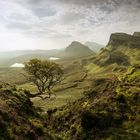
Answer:
<svg viewBox="0 0 140 140"><path fill-rule="evenodd" d="M121 81L116 76L93 80L85 97L48 114L48 128L68 140L139 140L139 76L137 67Z"/></svg>

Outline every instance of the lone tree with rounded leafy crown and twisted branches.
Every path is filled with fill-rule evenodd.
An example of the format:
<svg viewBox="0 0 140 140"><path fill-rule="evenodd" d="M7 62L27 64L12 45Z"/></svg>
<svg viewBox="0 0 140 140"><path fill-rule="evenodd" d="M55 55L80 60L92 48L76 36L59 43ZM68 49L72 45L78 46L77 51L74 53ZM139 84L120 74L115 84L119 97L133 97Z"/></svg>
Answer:
<svg viewBox="0 0 140 140"><path fill-rule="evenodd" d="M58 64L47 60L32 59L25 63L24 70L28 73L28 80L33 82L39 93L48 91L51 96L51 89L61 81L63 71Z"/></svg>

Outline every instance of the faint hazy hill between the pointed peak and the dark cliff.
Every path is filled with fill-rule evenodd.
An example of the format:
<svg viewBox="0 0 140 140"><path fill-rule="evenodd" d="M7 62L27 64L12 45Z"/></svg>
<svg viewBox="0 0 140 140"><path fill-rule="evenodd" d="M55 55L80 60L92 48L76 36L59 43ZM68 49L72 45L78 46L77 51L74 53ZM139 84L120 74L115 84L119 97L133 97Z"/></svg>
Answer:
<svg viewBox="0 0 140 140"><path fill-rule="evenodd" d="M98 44L96 42L86 42L85 43L86 46L88 46L91 50L93 50L94 52L99 52L101 48L104 48L104 45Z"/></svg>

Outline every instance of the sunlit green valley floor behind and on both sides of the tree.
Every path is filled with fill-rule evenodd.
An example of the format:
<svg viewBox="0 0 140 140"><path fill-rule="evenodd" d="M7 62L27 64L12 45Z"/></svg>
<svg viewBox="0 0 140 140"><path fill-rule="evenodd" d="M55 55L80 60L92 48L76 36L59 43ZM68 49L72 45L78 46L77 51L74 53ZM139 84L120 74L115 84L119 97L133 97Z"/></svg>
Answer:
<svg viewBox="0 0 140 140"><path fill-rule="evenodd" d="M85 57L85 59L90 59L90 56ZM118 67L116 64L100 67L93 63L84 66L80 58L77 60L67 59L59 61L58 63L60 63L64 69L65 79L54 87L53 91L56 96L44 100L40 97L31 99L35 106L39 106L45 111L47 111L48 108L60 107L83 97L83 93L91 88L92 81L95 78L110 77L110 75L114 73L112 70ZM5 68L1 69L0 78L2 81L17 84L18 88L28 89L33 94L37 93L37 88L32 83L27 82L22 73L24 73L24 71L20 68ZM46 97L46 95L43 95L43 97Z"/></svg>

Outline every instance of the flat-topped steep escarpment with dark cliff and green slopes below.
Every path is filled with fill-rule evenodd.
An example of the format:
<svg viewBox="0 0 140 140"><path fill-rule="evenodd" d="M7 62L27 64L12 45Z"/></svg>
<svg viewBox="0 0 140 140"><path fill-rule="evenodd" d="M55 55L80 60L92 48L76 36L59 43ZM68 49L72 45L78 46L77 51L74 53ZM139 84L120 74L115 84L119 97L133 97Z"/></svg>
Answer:
<svg viewBox="0 0 140 140"><path fill-rule="evenodd" d="M107 46L93 57L92 62L99 66L111 64L129 66L140 63L140 36L139 32L133 35L113 33Z"/></svg>

